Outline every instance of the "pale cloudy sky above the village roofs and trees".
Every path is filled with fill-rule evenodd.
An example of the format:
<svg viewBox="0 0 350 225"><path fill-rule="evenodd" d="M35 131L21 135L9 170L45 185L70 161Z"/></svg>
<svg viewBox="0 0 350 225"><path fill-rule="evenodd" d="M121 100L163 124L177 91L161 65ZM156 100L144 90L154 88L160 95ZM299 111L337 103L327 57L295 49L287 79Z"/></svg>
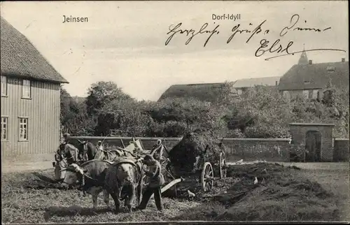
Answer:
<svg viewBox="0 0 350 225"><path fill-rule="evenodd" d="M239 16L213 20L213 14ZM64 15L88 21L63 23ZM313 63L349 61L348 1L6 1L1 16L69 81L64 88L71 96L86 96L92 83L103 80L116 82L135 99L156 101L171 85L281 76L301 53L265 59L286 54L290 42L289 53L346 50L307 52ZM260 33L253 34L263 21ZM179 23L177 29L195 32L205 23L202 31L219 26L218 33L202 32L187 45L190 35L176 33L165 45ZM227 43L238 29L251 33L238 32ZM269 41L266 52L256 57L263 39ZM280 44L284 52L274 52Z"/></svg>

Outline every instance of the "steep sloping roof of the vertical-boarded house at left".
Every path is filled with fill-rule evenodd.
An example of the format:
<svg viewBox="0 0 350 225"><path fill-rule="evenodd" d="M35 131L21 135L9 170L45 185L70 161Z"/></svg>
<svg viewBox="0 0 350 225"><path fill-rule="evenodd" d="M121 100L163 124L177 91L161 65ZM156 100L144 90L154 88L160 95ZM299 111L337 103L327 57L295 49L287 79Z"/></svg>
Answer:
<svg viewBox="0 0 350 225"><path fill-rule="evenodd" d="M68 83L33 44L1 17L1 74Z"/></svg>

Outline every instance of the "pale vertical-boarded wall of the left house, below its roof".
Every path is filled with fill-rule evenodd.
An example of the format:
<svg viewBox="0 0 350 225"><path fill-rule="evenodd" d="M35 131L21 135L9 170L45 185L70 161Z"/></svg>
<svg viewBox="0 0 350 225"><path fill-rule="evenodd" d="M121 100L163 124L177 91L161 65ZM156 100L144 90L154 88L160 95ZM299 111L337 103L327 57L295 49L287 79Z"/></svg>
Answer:
<svg viewBox="0 0 350 225"><path fill-rule="evenodd" d="M8 96L1 96L1 117L8 117L8 140L1 140L1 158L42 161L59 145L60 85L31 80L31 99L22 99L22 79L7 80ZM19 117L28 118L27 141L19 141Z"/></svg>

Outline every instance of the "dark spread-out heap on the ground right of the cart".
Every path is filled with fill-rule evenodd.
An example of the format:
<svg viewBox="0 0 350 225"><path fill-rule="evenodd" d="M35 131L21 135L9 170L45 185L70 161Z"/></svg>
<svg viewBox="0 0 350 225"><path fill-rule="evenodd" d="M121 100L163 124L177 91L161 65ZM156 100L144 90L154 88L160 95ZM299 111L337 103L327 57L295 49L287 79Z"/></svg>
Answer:
<svg viewBox="0 0 350 225"><path fill-rule="evenodd" d="M228 168L228 176L216 180L210 193L195 191L196 201L220 203L212 220L234 221L336 221L333 194L298 173L300 168L279 164L245 164ZM258 183L254 184L255 177ZM187 217L196 217L195 210Z"/></svg>

